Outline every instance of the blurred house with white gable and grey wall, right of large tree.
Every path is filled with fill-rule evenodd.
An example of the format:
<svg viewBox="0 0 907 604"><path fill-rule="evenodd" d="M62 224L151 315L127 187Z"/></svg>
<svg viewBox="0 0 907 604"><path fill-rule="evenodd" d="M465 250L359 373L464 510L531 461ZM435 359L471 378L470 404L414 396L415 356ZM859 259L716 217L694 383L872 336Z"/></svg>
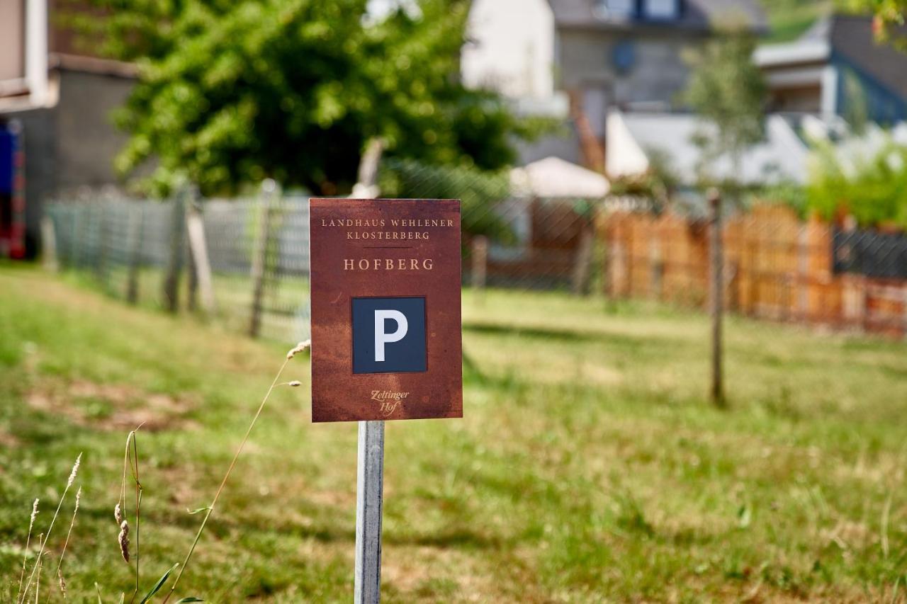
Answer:
<svg viewBox="0 0 907 604"><path fill-rule="evenodd" d="M475 0L463 81L524 113L569 118L565 135L522 149L604 166L608 113L667 110L688 78L682 54L717 24L766 29L756 0Z"/></svg>

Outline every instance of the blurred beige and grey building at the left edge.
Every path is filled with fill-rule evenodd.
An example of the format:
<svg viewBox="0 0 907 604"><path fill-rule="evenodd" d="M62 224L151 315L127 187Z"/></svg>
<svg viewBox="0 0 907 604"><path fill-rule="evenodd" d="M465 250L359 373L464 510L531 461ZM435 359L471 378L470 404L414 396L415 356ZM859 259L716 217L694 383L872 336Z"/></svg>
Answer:
<svg viewBox="0 0 907 604"><path fill-rule="evenodd" d="M0 2L0 257L33 254L44 200L116 186L112 161L126 141L111 112L132 90L135 68L92 56L57 23L54 0ZM10 159L14 158L14 159ZM2 184L2 183L0 183ZM15 187L13 187L15 189Z"/></svg>

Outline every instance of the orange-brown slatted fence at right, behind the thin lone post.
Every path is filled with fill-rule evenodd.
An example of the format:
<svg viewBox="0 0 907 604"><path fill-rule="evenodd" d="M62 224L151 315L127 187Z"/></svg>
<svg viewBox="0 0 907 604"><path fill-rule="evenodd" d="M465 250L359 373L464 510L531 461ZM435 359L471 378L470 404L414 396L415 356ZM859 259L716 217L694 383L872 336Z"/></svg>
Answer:
<svg viewBox="0 0 907 604"><path fill-rule="evenodd" d="M675 214L600 216L604 293L686 307L707 303L707 224ZM758 206L727 219L725 307L777 321L891 336L907 333L907 252L902 234L841 229Z"/></svg>

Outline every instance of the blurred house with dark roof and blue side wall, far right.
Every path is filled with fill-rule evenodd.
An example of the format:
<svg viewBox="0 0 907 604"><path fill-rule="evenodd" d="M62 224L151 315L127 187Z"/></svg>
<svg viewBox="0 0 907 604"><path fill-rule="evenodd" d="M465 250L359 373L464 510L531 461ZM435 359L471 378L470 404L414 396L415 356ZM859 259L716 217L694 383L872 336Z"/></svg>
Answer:
<svg viewBox="0 0 907 604"><path fill-rule="evenodd" d="M754 58L774 111L882 123L907 118L907 54L875 42L872 17L825 17L795 42L760 46Z"/></svg>

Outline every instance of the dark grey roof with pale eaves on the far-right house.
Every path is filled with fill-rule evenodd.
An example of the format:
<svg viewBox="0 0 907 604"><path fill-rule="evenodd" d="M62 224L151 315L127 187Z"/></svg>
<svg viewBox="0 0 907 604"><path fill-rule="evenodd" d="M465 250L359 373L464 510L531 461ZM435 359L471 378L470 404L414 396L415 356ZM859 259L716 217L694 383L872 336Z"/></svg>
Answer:
<svg viewBox="0 0 907 604"><path fill-rule="evenodd" d="M870 16L824 17L794 42L763 44L754 55L762 67L825 63L835 57L907 99L907 54L875 41Z"/></svg>

